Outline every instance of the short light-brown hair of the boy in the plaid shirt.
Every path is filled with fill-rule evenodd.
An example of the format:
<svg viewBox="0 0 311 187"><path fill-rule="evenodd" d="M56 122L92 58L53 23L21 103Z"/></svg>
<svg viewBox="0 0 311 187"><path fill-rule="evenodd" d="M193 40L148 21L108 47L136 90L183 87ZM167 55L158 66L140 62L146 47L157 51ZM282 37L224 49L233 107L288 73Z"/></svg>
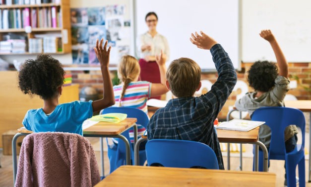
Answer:
<svg viewBox="0 0 311 187"><path fill-rule="evenodd" d="M166 79L175 96L193 96L201 80L201 68L189 58L179 58L170 64Z"/></svg>

